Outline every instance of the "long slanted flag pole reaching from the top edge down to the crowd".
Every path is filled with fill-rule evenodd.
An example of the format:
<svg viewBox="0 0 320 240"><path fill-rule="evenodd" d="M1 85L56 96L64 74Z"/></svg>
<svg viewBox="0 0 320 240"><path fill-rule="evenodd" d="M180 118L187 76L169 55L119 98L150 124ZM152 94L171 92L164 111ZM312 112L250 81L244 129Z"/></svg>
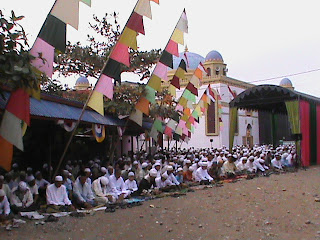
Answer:
<svg viewBox="0 0 320 240"><path fill-rule="evenodd" d="M131 15L129 16L129 18L128 18L128 20L127 20L127 23L124 25L124 28L122 29L122 32L121 32L121 34L120 34L119 36L121 36L121 35L123 34L124 29L126 28L126 26L127 26L128 22L129 22L131 16L132 16L132 14L133 14L133 12L134 12L134 9L136 9L139 1L140 1L140 0L138 0L138 1L136 2L136 5L135 5L135 7L133 8L133 11L131 12ZM117 39L117 42L118 42L118 39ZM72 131L72 133L71 133L71 135L70 135L70 137L69 137L69 140L68 140L68 142L67 142L67 145L66 145L65 148L64 148L64 151L63 151L63 153L62 153L62 156L60 157L58 166L57 166L57 168L56 168L56 170L55 170L55 172L54 172L54 174L53 174L53 177L56 176L57 173L58 173L58 171L60 170L60 167L61 167L61 164L62 164L62 162L63 162L63 159L64 159L64 157L66 156L66 153L67 153L67 151L68 151L68 148L69 148L69 146L70 146L70 143L71 143L71 141L72 141L72 139L73 139L73 137L74 137L74 135L75 135L75 133L76 133L76 130L77 130L77 128L78 128L78 126L79 126L79 124L80 124L80 121L81 121L81 119L82 119L82 117L83 117L83 115L84 115L84 112L85 112L85 110L86 110L86 108L87 108L87 106L88 106L88 103L89 103L89 100L90 100L90 98L91 98L91 96L92 96L92 94L93 94L93 91L94 91L94 89L95 89L96 86L97 86L97 83L98 83L98 81L99 81L99 79L100 79L100 77L101 77L101 75L102 75L103 69L107 66L107 63L109 62L110 56L111 56L111 54L113 53L117 42L113 45L113 47L112 47L112 49L111 49L111 51L110 51L110 54L109 54L109 56L108 56L108 58L107 58L107 61L104 63L104 65L103 65L103 67L102 67L102 69L101 69L101 73L100 73L100 75L99 75L99 78L98 78L98 80L97 80L94 88L93 88L92 91L90 92L89 97L87 98L85 104L83 105L83 108L82 108L81 114L80 114L80 116L79 116L79 119L77 120L76 125L75 125L75 127L74 127L74 129L73 129L73 131Z"/></svg>

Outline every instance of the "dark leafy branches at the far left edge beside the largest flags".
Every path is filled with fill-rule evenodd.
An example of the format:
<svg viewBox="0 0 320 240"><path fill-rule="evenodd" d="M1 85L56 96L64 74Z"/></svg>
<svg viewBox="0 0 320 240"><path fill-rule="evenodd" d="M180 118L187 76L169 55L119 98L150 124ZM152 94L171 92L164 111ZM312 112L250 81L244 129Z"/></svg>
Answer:
<svg viewBox="0 0 320 240"><path fill-rule="evenodd" d="M0 10L0 84L12 89L38 89L41 74L34 72L30 61L33 59L25 49L27 37L19 21L23 16L7 19Z"/></svg>

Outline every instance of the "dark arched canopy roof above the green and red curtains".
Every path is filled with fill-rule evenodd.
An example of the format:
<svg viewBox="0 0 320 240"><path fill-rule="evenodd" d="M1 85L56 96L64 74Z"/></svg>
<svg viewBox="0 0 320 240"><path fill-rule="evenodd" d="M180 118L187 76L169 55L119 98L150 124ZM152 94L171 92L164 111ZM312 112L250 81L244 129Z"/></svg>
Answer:
<svg viewBox="0 0 320 240"><path fill-rule="evenodd" d="M233 99L230 107L286 113L285 101L303 99L320 104L320 98L276 85L259 85L247 89Z"/></svg>

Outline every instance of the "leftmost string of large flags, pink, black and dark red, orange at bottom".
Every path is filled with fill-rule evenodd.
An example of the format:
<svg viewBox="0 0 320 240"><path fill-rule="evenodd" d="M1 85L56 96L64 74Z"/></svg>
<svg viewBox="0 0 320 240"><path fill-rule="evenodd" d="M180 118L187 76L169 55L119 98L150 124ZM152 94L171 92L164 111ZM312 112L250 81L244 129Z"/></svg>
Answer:
<svg viewBox="0 0 320 240"><path fill-rule="evenodd" d="M91 0L81 0L88 6ZM67 25L78 29L79 0L56 0L30 50L31 65L52 77L54 51L66 49ZM11 168L13 146L23 151L23 135L30 126L30 94L40 99L40 90L17 89L11 92L0 126L0 165Z"/></svg>

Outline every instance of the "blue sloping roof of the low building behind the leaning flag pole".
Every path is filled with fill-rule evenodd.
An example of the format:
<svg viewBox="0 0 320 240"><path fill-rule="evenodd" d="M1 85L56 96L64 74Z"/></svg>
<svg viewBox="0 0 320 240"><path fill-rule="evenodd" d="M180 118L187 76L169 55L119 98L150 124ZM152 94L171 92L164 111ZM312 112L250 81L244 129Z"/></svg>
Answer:
<svg viewBox="0 0 320 240"><path fill-rule="evenodd" d="M0 109L5 109L9 92L3 92L4 98L0 96ZM31 117L47 119L78 120L83 104L76 101L69 101L57 96L42 94L41 100L30 98ZM49 100L50 99L50 100ZM85 110L82 122L96 123L108 126L123 126L124 121L111 116L102 116L95 111Z"/></svg>

